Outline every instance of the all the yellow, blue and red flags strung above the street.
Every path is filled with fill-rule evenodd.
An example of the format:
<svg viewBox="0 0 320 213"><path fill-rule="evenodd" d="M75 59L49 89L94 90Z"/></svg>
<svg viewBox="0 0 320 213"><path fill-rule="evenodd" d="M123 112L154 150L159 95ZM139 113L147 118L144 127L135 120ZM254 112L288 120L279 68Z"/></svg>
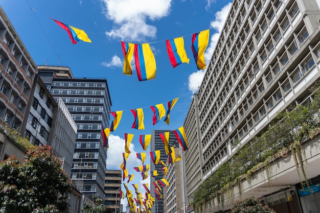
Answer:
<svg viewBox="0 0 320 213"><path fill-rule="evenodd" d="M53 19L53 18L51 18ZM73 44L76 44L78 41L82 40L85 42L92 42L87 34L79 29L75 28L70 25L66 25L65 23L62 23L56 19L53 19L62 29L66 30L68 33L68 36L70 37ZM192 44L191 49L193 53L193 57L195 60L195 63L197 65L197 68L205 69L206 64L204 61L204 51L207 49L208 43L209 43L209 29L204 30L198 33L194 33L192 35ZM122 52L124 56L124 66L123 66L123 74L131 76L132 75L132 67L131 67L131 61L134 58L134 64L135 69L138 75L139 81L146 81L154 79L156 76L156 61L154 54L150 48L149 43L128 43L121 41L122 46ZM187 56L186 50L185 50L185 41L184 37L178 37L174 39L166 40L166 49L168 53L168 57L170 60L170 63L172 67L176 67L181 63L187 63L189 64L190 59ZM176 104L178 98L173 99L168 102L167 110L165 109L164 104L156 104L153 106L150 106L153 116L152 116L152 125L157 124L163 117L165 117L164 121L166 124L170 124L170 112L173 109L174 105ZM144 129L144 112L142 108L137 109L131 109L131 113L133 114L134 121L131 128L143 130ZM112 111L110 112L111 115L114 117L114 120L111 122L110 127L103 127L101 126L102 130L102 136L103 136L103 146L106 148L109 148L108 145L108 136L110 132L113 132L117 129L119 126L119 123L121 121L123 111ZM188 150L187 145L187 138L185 134L184 127L180 127L176 130L174 130L174 133L176 135L176 138L179 142L180 147L182 147L183 151ZM164 149L165 153L168 155L168 163L175 163L181 159L181 156L179 155L176 157L174 147L170 147L169 145L169 135L170 131L160 133L159 136L163 140L164 143ZM123 163L121 164L120 168L123 171L123 181L127 178L127 183L133 180L134 174L128 174L128 170L126 168L126 161L130 155L130 144L133 139L134 135L125 133L125 144L124 149L125 152L123 153ZM139 137L140 144L143 148L143 150L147 150L150 141L151 141L151 134L146 135L140 135ZM136 172L140 172L142 176L142 180L145 180L148 177L149 172L149 164L144 164L146 159L146 153L136 153L136 157L142 161L142 165L138 165L134 167L133 169ZM150 157L152 159L152 162L157 165L161 164L161 170L164 172L164 174L167 174L168 168L164 161L160 161L161 158L161 150L155 150L150 152ZM158 176L158 171L153 170L149 173L151 177ZM160 180L156 180L153 182L153 185L155 186L154 189L154 195L155 198L151 196L151 192L148 188L148 184L142 184L146 193L143 197L142 193L139 192L138 184L132 184L136 198L133 198L132 191L128 190L127 184L123 183L126 188L126 193L123 191L120 191L120 197L121 199L124 199L125 197L128 200L130 212L150 212L151 213L151 207L156 199L162 199L162 187L169 186L169 183L166 179L162 178Z"/></svg>

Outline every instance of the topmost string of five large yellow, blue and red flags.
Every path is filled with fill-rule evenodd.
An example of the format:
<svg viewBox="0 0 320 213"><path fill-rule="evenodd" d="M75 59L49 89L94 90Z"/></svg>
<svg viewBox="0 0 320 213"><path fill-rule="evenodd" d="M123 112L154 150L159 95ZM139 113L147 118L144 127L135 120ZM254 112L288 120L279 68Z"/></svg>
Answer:
<svg viewBox="0 0 320 213"><path fill-rule="evenodd" d="M78 28L66 25L54 18L53 19L62 29L66 30L72 43L77 41L90 42L87 34ZM193 58L199 70L205 69L204 52L209 43L210 29L192 34L191 50ZM129 43L121 41L121 48L124 57L123 74L131 76L131 61L134 58L134 64L139 81L154 79L156 76L156 61L149 43ZM166 49L172 67L181 63L189 64L190 59L185 50L184 37L177 37L166 40Z"/></svg>

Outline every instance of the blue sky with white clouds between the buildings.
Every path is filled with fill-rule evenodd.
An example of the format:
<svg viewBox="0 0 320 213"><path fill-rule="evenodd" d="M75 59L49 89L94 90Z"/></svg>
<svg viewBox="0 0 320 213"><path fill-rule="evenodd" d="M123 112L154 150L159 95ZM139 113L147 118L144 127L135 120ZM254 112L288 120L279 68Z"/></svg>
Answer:
<svg viewBox="0 0 320 213"><path fill-rule="evenodd" d="M205 52L208 64L231 1L0 0L0 4L37 65L64 65L71 68L74 77L107 79L111 110L123 110L118 129L109 136L107 168L120 169L124 133L134 134L127 161L129 174L135 176L130 183L150 182L149 178L141 181L141 174L132 169L142 165L135 157L135 153L144 152L139 135L151 134L153 129L175 130L183 125L204 74L204 70L197 70L192 56L192 34L211 28ZM92 43L72 44L66 31L49 17L84 30ZM165 40L181 36L190 62L172 68ZM139 82L135 70L131 76L123 75L121 41L150 43L157 66L155 79ZM167 102L174 98L179 99L170 113L170 125L162 119L153 126L150 106L164 103L167 108ZM144 110L145 130L131 128L130 109L136 108ZM110 118L112 121L113 116ZM145 152L147 164L150 150ZM131 190L134 191L133 187ZM145 192L142 185L139 190ZM126 205L125 201L123 204Z"/></svg>

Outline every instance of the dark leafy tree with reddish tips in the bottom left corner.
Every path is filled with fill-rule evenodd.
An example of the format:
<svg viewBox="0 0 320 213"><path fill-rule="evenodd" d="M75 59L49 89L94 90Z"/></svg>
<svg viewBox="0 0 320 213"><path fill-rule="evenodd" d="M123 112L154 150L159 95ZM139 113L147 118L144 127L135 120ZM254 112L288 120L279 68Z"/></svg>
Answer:
<svg viewBox="0 0 320 213"><path fill-rule="evenodd" d="M60 160L42 146L27 152L20 163L9 157L0 163L0 212L67 212L72 183Z"/></svg>

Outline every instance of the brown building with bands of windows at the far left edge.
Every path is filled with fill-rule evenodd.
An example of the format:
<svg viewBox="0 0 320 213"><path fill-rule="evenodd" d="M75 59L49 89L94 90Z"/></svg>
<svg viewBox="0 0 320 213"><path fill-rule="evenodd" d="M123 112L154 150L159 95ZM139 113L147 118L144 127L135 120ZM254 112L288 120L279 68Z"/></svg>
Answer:
<svg viewBox="0 0 320 213"><path fill-rule="evenodd" d="M36 64L0 6L0 123L20 128L25 118Z"/></svg>

